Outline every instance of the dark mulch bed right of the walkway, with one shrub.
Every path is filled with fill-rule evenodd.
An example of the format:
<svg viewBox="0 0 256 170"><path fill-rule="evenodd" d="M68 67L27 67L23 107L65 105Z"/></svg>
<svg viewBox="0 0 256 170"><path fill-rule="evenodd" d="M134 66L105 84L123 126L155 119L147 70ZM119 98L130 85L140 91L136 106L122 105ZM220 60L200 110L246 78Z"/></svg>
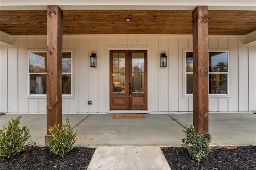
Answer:
<svg viewBox="0 0 256 170"><path fill-rule="evenodd" d="M214 147L201 162L186 148L161 148L172 170L256 170L256 146Z"/></svg>

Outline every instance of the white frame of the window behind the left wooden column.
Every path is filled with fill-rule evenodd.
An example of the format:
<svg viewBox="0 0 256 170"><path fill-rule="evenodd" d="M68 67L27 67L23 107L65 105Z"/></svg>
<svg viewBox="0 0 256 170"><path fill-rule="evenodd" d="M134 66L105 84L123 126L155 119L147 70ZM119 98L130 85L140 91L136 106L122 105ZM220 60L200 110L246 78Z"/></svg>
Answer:
<svg viewBox="0 0 256 170"><path fill-rule="evenodd" d="M46 94L30 94L30 75L36 75L36 74L44 74L46 75L46 72L43 73L30 73L29 72L29 53L47 53L47 51L28 51L27 56L27 96L28 97L42 97L42 98L46 98ZM71 75L71 85L70 85L70 94L62 94L62 97L68 97L68 98L73 98L74 97L74 50L69 50L69 49L65 49L62 50L62 53L70 53L71 55L71 72L70 73L66 73L66 72L62 72L63 74L70 74Z"/></svg>

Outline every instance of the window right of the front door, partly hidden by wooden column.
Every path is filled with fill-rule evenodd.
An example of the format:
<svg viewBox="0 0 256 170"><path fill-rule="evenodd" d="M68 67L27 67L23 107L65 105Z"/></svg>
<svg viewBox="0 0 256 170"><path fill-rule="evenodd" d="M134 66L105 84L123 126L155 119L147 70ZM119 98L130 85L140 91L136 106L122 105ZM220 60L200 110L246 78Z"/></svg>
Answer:
<svg viewBox="0 0 256 170"><path fill-rule="evenodd" d="M186 94L193 94L193 52L186 52ZM209 94L228 94L228 52L209 52Z"/></svg>

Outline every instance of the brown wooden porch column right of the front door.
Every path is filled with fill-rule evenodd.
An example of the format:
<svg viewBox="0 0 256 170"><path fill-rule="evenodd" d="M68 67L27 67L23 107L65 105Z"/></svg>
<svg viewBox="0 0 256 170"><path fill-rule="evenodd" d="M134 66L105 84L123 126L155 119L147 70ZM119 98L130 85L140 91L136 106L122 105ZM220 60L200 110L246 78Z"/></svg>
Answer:
<svg viewBox="0 0 256 170"><path fill-rule="evenodd" d="M193 125L208 133L208 6L193 11Z"/></svg>

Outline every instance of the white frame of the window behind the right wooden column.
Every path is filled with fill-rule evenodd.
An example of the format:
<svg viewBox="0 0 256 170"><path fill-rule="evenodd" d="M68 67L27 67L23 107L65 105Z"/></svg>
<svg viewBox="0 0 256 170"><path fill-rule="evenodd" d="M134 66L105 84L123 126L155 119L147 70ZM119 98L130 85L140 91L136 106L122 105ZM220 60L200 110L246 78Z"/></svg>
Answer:
<svg viewBox="0 0 256 170"><path fill-rule="evenodd" d="M193 75L193 72L186 72L186 66L187 66L187 62L186 62L186 53L187 52L193 52L192 49L184 49L184 97L193 97L193 94L187 94L187 74L192 74ZM227 75L227 93L225 94L222 94L222 93L216 93L216 94L212 94L212 93L209 93L209 84L208 84L208 95L209 96L213 96L213 97L216 97L216 96L229 96L229 77L230 77L230 72L229 72L229 55L230 55L230 50L229 49L209 49L208 50L208 61L209 61L209 53L211 52L215 52L215 53L220 53L220 52L226 52L228 53L228 71L227 72L208 72L208 79L209 79L209 75L212 74L212 75L216 75L216 74L226 74ZM209 62L208 62L208 67L209 67Z"/></svg>

